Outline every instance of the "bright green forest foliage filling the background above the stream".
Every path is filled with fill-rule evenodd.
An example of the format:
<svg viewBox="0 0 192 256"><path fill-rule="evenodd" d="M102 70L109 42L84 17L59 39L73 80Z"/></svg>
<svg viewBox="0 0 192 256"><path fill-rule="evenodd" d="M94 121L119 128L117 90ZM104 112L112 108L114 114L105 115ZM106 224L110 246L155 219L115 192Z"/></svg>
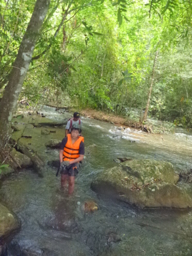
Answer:
<svg viewBox="0 0 192 256"><path fill-rule="evenodd" d="M35 0L0 4L0 95L34 4ZM188 1L81 0L72 3L61 24L68 4L51 2L21 99L66 105L71 100L71 105L138 120L146 106L158 49L149 115L192 126Z"/></svg>

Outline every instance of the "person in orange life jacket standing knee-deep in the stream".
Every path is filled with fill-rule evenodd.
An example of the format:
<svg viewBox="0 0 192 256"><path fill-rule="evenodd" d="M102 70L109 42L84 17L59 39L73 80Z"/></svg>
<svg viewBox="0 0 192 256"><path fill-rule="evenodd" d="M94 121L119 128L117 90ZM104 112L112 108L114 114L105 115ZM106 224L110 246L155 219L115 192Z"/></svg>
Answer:
<svg viewBox="0 0 192 256"><path fill-rule="evenodd" d="M79 162L85 154L84 137L79 136L79 130L79 126L73 125L71 134L67 134L60 146L61 187L65 187L68 181L68 194L73 193Z"/></svg>

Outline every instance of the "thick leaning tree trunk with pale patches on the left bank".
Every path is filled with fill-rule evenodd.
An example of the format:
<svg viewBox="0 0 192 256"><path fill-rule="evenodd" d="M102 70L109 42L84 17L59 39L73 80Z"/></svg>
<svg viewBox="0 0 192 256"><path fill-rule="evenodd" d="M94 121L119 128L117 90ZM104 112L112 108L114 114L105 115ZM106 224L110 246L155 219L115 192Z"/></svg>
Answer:
<svg viewBox="0 0 192 256"><path fill-rule="evenodd" d="M17 58L10 73L9 82L0 102L0 154L9 138L12 114L19 99L19 94L33 55L39 31L43 24L51 0L37 0L30 22L19 47Z"/></svg>

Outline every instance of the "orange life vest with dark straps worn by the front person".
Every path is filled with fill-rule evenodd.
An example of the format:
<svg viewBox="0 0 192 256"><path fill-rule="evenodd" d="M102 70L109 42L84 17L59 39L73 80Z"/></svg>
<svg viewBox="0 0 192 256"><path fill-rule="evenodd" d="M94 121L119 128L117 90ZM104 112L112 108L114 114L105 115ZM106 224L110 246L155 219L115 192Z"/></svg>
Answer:
<svg viewBox="0 0 192 256"><path fill-rule="evenodd" d="M63 149L63 161L72 161L79 157L78 151L82 141L84 142L84 137L79 136L78 139L72 143L71 134L67 135L67 143Z"/></svg>

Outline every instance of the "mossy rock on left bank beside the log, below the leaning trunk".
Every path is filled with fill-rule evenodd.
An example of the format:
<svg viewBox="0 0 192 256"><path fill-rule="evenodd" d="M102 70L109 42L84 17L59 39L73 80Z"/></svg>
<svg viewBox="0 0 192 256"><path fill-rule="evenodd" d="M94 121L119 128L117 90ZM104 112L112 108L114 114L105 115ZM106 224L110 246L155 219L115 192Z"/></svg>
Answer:
<svg viewBox="0 0 192 256"><path fill-rule="evenodd" d="M17 165L17 168L20 166L22 168L33 166L33 163L28 156L16 151L14 148L11 151L11 156L15 160L15 164Z"/></svg>

